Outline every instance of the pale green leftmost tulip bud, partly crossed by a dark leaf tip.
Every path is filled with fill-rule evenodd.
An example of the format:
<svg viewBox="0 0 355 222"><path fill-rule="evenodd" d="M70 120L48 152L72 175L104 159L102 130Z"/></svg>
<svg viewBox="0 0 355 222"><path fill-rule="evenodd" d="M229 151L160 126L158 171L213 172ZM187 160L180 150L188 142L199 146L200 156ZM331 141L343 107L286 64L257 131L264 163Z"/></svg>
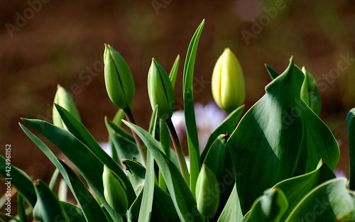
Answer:
<svg viewBox="0 0 355 222"><path fill-rule="evenodd" d="M60 87L60 84L58 84L57 86L57 92L55 93L54 96L54 103L62 106L62 108L66 109L68 112L72 114L72 116L77 118L78 121L81 121L79 112L77 111L77 107L75 106L74 101L72 101L72 96L70 96L67 90L65 90L63 87ZM67 129L57 109L55 109L55 106L53 106L52 115L53 115L54 126Z"/></svg>

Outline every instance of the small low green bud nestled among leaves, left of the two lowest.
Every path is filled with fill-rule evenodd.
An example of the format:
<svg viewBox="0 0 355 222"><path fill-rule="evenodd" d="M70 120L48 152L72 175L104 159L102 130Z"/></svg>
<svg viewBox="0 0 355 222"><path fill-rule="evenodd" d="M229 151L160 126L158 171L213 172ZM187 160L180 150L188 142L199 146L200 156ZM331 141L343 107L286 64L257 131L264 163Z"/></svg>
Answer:
<svg viewBox="0 0 355 222"><path fill-rule="evenodd" d="M104 196L109 206L119 215L126 216L129 201L124 182L114 172L109 170L107 165L104 165L102 181L104 184Z"/></svg>

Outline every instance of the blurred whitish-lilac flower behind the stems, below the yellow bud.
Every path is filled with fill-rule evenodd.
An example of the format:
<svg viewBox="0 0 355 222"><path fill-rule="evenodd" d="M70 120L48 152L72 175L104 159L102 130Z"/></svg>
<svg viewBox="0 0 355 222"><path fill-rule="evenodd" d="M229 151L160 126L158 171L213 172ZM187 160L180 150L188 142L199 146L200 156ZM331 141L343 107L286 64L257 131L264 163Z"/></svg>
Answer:
<svg viewBox="0 0 355 222"><path fill-rule="evenodd" d="M202 104L195 104L195 114L200 150L203 150L209 135L212 133L214 128L219 126L219 124L224 121L226 113L219 109L216 104L211 102L206 106L203 106ZM182 136L185 136L186 134L184 111L175 111L171 117L171 120L174 123L179 139L182 140Z"/></svg>

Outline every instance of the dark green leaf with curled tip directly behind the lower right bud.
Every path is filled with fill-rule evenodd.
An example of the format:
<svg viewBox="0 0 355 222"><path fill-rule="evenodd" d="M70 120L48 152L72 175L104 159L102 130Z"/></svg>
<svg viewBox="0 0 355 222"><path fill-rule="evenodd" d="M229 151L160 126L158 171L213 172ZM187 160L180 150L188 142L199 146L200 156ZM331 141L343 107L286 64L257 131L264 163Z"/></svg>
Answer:
<svg viewBox="0 0 355 222"><path fill-rule="evenodd" d="M203 162L216 175L219 183L220 201L215 218L218 218L222 212L235 184L231 154L226 146L228 138L229 135L219 135L209 148Z"/></svg>

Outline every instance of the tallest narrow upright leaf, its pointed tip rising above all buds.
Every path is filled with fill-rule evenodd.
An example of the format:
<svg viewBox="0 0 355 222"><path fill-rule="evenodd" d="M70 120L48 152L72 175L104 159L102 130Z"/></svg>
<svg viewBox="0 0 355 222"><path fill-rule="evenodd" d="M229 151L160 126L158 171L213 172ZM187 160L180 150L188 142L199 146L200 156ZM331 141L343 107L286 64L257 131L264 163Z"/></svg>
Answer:
<svg viewBox="0 0 355 222"><path fill-rule="evenodd" d="M197 177L200 172L200 145L197 136L195 107L194 107L194 95L193 95L193 77L195 58L197 52L197 45L200 40L202 28L204 26L204 20L195 31L190 41L189 48L187 49L186 60L184 65L182 91L184 97L184 113L186 123L187 143L189 147L190 158L190 190L192 195L195 196L195 188Z"/></svg>

